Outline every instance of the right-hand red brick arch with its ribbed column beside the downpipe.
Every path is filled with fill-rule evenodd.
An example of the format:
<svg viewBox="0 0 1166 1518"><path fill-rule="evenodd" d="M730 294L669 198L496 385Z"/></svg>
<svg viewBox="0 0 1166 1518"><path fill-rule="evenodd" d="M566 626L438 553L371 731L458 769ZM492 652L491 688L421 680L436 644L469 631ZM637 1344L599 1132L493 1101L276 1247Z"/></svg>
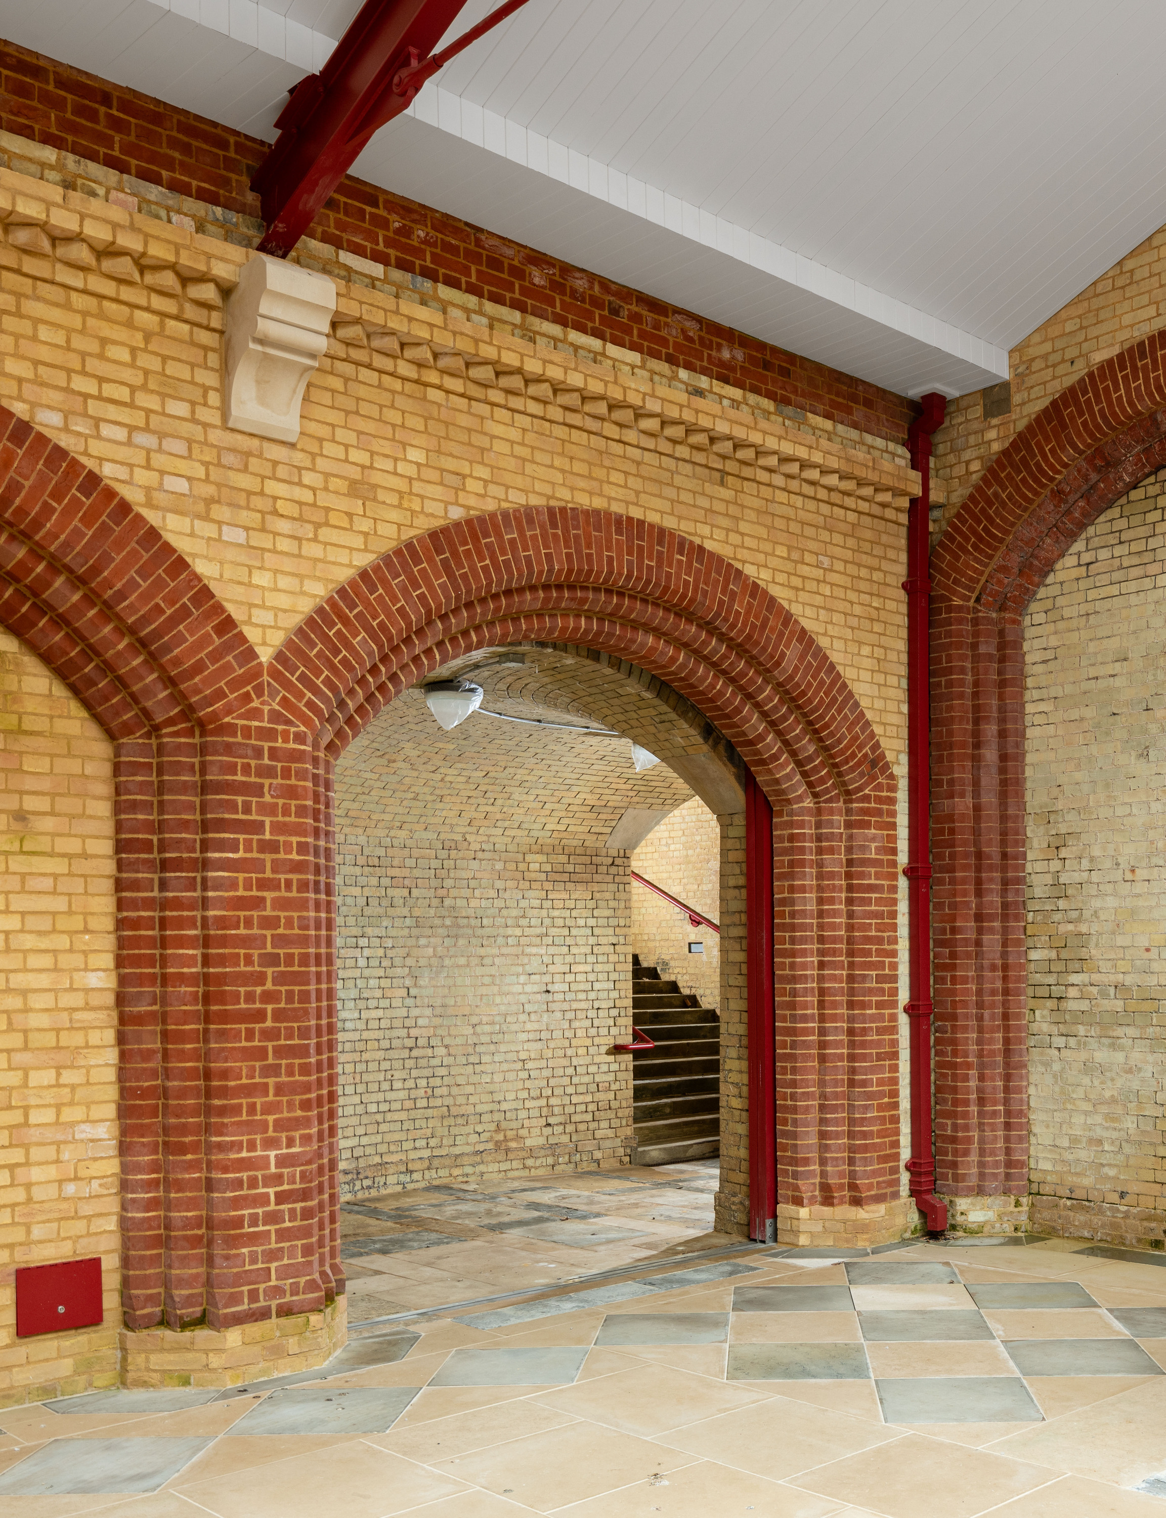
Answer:
<svg viewBox="0 0 1166 1518"><path fill-rule="evenodd" d="M931 560L935 1149L953 1196L1028 1192L1023 615L1166 466L1166 334L1082 375L984 472Z"/></svg>

